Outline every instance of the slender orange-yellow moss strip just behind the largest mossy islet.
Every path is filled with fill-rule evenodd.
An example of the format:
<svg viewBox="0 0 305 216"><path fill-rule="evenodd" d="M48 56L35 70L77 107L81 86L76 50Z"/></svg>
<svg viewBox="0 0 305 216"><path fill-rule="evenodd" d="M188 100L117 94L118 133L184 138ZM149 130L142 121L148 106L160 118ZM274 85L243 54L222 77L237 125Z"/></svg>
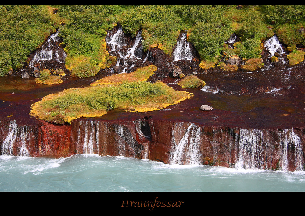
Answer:
<svg viewBox="0 0 305 216"><path fill-rule="evenodd" d="M96 80L91 83L91 86L97 85L107 85L107 84L121 84L124 82L134 82L134 81L147 81L147 79L152 76L154 71L157 70L155 65L149 65L143 68L138 68L131 73L120 73L113 74L111 76L104 77L100 80Z"/></svg>

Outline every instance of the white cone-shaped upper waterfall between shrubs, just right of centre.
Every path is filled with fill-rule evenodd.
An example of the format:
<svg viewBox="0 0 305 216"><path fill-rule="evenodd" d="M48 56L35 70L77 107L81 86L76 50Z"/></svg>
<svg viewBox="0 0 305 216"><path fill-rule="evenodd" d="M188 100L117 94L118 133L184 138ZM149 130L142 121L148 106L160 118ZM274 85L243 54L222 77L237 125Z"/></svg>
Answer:
<svg viewBox="0 0 305 216"><path fill-rule="evenodd" d="M177 41L176 49L173 52L174 61L178 60L192 60L192 53L190 43L186 41L186 33Z"/></svg>

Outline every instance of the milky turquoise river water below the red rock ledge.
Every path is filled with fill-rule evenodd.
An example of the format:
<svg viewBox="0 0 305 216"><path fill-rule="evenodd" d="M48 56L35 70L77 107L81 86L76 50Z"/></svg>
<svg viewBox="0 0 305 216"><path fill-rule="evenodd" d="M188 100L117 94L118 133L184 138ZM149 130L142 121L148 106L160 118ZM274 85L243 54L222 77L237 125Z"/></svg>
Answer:
<svg viewBox="0 0 305 216"><path fill-rule="evenodd" d="M96 154L1 155L0 191L305 191L305 172L168 165Z"/></svg>

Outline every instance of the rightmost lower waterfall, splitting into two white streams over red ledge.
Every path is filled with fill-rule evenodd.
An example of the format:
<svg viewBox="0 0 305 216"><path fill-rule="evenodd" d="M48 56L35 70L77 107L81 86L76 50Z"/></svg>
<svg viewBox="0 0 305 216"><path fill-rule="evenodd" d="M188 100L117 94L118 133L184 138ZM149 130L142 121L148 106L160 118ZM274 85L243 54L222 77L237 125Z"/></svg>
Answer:
<svg viewBox="0 0 305 216"><path fill-rule="evenodd" d="M293 128L292 129L283 129L283 141L282 141L282 147L283 147L283 154L280 159L280 169L282 171L288 171L288 145L291 144L291 146L294 147L294 166L296 168L296 171L304 170L304 160L303 160L303 151L301 147L301 139L294 133Z"/></svg>

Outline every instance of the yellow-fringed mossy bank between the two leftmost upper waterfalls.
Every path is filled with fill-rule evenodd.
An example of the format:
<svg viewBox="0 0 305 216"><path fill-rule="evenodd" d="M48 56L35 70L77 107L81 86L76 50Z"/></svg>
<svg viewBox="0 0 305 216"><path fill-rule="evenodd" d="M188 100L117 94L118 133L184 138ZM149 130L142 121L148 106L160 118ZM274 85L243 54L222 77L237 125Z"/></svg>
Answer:
<svg viewBox="0 0 305 216"><path fill-rule="evenodd" d="M99 47L90 53L70 55L69 48L65 49L68 53L66 68L71 71L71 76L79 78L95 76L100 69L113 67L117 63L116 56L109 56L105 39L98 36L90 37L95 46Z"/></svg>

